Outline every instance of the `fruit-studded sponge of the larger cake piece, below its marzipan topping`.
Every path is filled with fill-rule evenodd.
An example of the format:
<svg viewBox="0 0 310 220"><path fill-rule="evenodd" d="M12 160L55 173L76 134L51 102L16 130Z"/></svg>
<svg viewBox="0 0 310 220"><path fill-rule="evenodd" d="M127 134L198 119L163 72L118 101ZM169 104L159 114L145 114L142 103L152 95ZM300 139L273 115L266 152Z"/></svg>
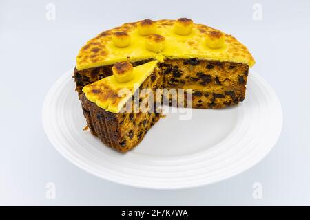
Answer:
<svg viewBox="0 0 310 220"><path fill-rule="evenodd" d="M245 99L245 85L249 72L249 67L245 64L204 61L196 58L167 59L165 63L159 64L159 68L163 79L156 84L156 88L192 89L193 108L219 109L238 104ZM81 85L93 83L92 80L96 82L99 76L111 74L111 66L76 70L74 72L76 89L82 94Z"/></svg>

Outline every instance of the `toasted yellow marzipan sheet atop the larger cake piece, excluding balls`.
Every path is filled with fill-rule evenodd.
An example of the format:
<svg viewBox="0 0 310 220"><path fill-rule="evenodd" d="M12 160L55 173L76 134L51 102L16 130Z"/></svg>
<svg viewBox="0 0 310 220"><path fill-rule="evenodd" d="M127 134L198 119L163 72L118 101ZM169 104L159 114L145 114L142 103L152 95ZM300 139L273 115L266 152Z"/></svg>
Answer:
<svg viewBox="0 0 310 220"><path fill-rule="evenodd" d="M225 42L223 47L211 49L206 43L207 35L218 30L193 23L189 34L182 35L176 34L175 23L175 20L154 21L154 25L156 25L154 34L159 34L165 38L165 47L161 51L158 50L158 52L156 50L156 52L147 50L145 41L148 36L139 34L138 22L125 23L121 27L102 32L81 48L76 57L76 68L82 70L111 65L121 61L134 62L149 58L161 58L161 60L165 58L199 58L245 63L249 67L254 65L254 58L247 50L247 47L237 41L234 36L224 34ZM127 33L130 37L130 41L127 39L130 42L129 45L117 47L117 43L115 45L117 40L113 40L116 32Z"/></svg>

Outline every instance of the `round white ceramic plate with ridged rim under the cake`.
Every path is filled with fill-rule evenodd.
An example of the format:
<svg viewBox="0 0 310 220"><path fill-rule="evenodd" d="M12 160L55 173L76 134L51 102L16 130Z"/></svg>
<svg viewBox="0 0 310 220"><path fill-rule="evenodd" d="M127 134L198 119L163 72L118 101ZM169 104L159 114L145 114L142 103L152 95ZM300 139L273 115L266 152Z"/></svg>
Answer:
<svg viewBox="0 0 310 220"><path fill-rule="evenodd" d="M192 120L168 113L133 151L121 154L83 131L86 122L72 72L61 76L45 98L45 133L70 162L119 184L178 189L227 179L265 157L282 129L276 94L251 72L247 96L237 107L192 109Z"/></svg>

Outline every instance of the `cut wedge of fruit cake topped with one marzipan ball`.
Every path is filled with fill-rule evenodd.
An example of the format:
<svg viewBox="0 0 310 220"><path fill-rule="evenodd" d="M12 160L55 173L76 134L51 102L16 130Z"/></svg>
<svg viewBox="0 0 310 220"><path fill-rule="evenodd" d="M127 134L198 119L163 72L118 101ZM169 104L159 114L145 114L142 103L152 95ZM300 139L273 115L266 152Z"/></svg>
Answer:
<svg viewBox="0 0 310 220"><path fill-rule="evenodd" d="M157 63L151 61L134 68L128 62L117 63L112 76L83 87L80 100L87 124L92 134L100 137L107 146L121 152L130 150L160 118L161 111L155 111L154 105L148 109L135 109L138 104L141 106L141 96L132 98L136 91L148 88L155 94L155 89L161 87L163 77ZM117 78L117 73L125 76L127 81L124 77ZM152 97L151 103L155 104L153 100Z"/></svg>

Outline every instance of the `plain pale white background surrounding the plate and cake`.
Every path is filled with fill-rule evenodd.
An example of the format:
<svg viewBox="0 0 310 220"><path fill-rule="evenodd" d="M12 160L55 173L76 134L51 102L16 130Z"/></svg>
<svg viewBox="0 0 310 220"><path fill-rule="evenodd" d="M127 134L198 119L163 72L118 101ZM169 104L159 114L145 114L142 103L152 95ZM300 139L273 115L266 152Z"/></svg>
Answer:
<svg viewBox="0 0 310 220"><path fill-rule="evenodd" d="M56 6L56 20L45 17ZM262 5L262 21L252 18ZM189 17L233 34L276 90L278 143L259 164L218 184L145 190L99 179L57 153L41 122L45 94L101 31L141 19ZM0 1L0 205L310 205L310 1ZM56 184L56 199L45 184ZM262 199L252 197L254 182Z"/></svg>

